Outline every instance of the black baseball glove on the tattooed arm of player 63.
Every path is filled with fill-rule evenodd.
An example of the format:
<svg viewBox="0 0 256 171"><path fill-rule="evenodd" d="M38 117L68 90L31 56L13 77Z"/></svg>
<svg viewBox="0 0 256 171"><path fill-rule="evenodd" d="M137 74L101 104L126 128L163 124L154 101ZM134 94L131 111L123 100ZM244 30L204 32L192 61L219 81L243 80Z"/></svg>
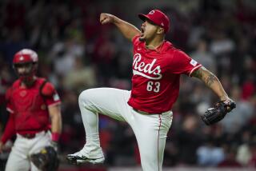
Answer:
<svg viewBox="0 0 256 171"><path fill-rule="evenodd" d="M226 113L229 113L235 106L234 101L218 101L213 108L207 109L205 114L201 116L202 121L204 121L206 125L212 125L221 121L226 116Z"/></svg>

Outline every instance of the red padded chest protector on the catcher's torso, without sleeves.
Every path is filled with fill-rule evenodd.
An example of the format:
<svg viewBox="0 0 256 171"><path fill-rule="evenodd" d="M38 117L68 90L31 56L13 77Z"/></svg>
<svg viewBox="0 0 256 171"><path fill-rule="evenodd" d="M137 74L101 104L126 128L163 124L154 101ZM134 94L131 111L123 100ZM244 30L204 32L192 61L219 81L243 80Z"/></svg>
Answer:
<svg viewBox="0 0 256 171"><path fill-rule="evenodd" d="M30 88L20 87L20 81L14 82L10 91L10 109L14 111L16 129L41 129L49 122L49 113L41 94L45 79L38 78ZM28 127L28 128L26 128Z"/></svg>

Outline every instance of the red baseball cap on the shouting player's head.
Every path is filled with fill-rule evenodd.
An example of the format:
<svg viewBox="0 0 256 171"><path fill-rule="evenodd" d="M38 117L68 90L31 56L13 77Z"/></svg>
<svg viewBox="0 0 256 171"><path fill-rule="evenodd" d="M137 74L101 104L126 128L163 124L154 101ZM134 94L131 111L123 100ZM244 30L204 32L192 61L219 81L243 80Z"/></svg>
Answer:
<svg viewBox="0 0 256 171"><path fill-rule="evenodd" d="M138 17L143 21L148 19L154 24L161 26L165 30L165 33L169 31L170 20L161 10L151 10L149 14L138 14Z"/></svg>

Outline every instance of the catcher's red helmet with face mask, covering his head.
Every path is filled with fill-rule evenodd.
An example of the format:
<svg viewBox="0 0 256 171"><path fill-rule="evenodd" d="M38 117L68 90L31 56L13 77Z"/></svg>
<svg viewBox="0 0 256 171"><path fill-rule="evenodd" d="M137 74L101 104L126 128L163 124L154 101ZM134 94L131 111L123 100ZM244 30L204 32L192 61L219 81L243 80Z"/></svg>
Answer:
<svg viewBox="0 0 256 171"><path fill-rule="evenodd" d="M13 67L22 82L30 82L38 70L38 54L23 49L14 54Z"/></svg>

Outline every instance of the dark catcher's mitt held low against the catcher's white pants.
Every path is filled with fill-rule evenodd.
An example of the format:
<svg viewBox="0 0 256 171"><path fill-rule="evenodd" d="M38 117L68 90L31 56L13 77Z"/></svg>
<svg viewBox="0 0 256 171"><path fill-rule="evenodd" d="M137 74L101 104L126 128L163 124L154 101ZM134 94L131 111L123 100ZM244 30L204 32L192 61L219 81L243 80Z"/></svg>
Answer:
<svg viewBox="0 0 256 171"><path fill-rule="evenodd" d="M32 154L30 159L42 171L55 171L58 169L58 154L52 146L46 146L39 153Z"/></svg>

